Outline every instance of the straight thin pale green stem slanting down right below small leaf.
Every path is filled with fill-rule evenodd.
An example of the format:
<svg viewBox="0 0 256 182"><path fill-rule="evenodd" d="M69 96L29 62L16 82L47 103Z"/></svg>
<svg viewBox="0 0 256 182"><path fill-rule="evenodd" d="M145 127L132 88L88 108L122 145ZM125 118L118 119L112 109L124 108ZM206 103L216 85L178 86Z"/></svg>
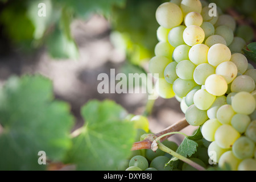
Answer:
<svg viewBox="0 0 256 182"><path fill-rule="evenodd" d="M171 154L172 156L175 156L176 158L182 160L183 162L189 164L190 166L196 168L199 171L205 171L204 167L201 167L199 164L193 162L192 160L185 158L184 156L177 154L175 151L171 150L170 148L164 146L163 143L158 143L158 148L168 154Z"/></svg>

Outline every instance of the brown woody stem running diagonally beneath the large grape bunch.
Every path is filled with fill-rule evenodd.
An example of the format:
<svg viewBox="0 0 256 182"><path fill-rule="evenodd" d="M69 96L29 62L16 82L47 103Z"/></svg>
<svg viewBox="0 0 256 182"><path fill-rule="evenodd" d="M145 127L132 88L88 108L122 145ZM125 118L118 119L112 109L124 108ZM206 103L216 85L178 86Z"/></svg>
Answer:
<svg viewBox="0 0 256 182"><path fill-rule="evenodd" d="M181 119L180 121L174 123L173 125L167 127L167 129L164 129L163 131L160 131L159 133L155 134L155 137L160 137L163 134L167 134L167 133L171 133L174 131L180 131L182 129L184 129L185 127L187 127L189 124L186 121L185 118ZM162 142L163 140L166 140L167 138L171 137L171 135L167 135L166 137L163 137L160 139L160 142ZM133 147L131 148L131 150L142 150L142 149L150 149L151 148L151 141L148 139L144 139L140 142L135 142L133 144Z"/></svg>

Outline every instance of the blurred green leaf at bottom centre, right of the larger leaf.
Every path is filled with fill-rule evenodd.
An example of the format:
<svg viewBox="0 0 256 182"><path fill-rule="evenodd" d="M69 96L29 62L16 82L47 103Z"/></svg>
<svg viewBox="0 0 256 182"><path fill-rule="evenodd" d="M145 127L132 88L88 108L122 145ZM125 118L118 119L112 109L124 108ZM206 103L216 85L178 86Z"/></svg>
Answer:
<svg viewBox="0 0 256 182"><path fill-rule="evenodd" d="M73 138L68 163L77 170L116 170L131 154L135 138L126 111L113 101L90 101L81 109L85 125Z"/></svg>

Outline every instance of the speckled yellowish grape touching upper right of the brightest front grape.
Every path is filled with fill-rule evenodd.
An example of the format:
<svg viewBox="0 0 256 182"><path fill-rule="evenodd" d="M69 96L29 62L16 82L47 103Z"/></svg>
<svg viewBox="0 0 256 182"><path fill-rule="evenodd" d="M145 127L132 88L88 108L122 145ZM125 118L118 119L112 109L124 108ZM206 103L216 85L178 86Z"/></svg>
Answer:
<svg viewBox="0 0 256 182"><path fill-rule="evenodd" d="M226 83L230 84L237 76L237 66L232 61L225 61L217 66L216 74L224 77Z"/></svg>

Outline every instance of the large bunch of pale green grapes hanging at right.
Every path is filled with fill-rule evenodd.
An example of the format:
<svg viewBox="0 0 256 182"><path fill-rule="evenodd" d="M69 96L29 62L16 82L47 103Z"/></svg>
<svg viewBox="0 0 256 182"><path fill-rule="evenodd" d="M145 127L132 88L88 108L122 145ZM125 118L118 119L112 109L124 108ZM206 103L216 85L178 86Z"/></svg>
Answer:
<svg viewBox="0 0 256 182"><path fill-rule="evenodd" d="M236 20L199 0L162 3L155 15L159 42L148 66L159 96L176 97L218 167L256 170L256 69L234 36Z"/></svg>

